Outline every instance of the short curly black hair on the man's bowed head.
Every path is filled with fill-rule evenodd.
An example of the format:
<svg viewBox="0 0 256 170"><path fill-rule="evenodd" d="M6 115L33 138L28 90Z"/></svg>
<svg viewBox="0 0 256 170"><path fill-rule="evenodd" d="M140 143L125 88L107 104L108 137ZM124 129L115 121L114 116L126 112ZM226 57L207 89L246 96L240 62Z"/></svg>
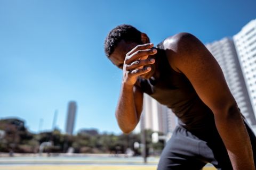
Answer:
<svg viewBox="0 0 256 170"><path fill-rule="evenodd" d="M115 47L121 40L142 44L141 32L128 24L118 25L116 28L111 30L108 33L104 44L105 54L107 57L114 52Z"/></svg>

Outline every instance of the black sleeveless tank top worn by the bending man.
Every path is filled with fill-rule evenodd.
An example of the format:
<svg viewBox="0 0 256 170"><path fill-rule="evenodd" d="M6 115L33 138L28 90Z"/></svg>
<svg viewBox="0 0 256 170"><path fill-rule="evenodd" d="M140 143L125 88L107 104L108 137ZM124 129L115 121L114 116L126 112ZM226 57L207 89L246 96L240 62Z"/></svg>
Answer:
<svg viewBox="0 0 256 170"><path fill-rule="evenodd" d="M172 69L166 58L163 42L157 45L156 64L159 78L138 78L141 90L159 103L171 108L184 128L201 132L215 129L214 116L209 107L198 97L187 77Z"/></svg>

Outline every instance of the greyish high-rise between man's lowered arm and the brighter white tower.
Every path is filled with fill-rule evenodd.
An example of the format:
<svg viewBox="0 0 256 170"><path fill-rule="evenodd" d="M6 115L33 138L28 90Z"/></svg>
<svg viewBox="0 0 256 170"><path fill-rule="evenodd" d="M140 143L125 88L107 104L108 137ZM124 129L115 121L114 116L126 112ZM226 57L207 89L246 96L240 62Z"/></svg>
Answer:
<svg viewBox="0 0 256 170"><path fill-rule="evenodd" d="M233 40L223 38L219 41L206 44L205 46L218 61L228 87L234 96L241 113L251 125L256 125L253 108Z"/></svg>

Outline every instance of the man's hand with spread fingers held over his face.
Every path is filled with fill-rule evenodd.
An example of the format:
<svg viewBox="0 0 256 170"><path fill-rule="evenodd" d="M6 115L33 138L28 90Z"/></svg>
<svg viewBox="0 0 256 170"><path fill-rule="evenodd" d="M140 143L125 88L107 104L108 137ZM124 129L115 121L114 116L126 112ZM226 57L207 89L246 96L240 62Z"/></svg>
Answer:
<svg viewBox="0 0 256 170"><path fill-rule="evenodd" d="M155 48L152 48L153 43L138 45L134 47L125 56L123 66L123 82L127 85L134 85L137 77L150 72L151 67L145 65L154 64L155 60L149 58L149 55L157 53Z"/></svg>

